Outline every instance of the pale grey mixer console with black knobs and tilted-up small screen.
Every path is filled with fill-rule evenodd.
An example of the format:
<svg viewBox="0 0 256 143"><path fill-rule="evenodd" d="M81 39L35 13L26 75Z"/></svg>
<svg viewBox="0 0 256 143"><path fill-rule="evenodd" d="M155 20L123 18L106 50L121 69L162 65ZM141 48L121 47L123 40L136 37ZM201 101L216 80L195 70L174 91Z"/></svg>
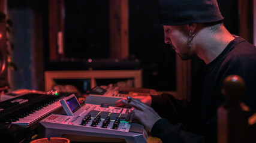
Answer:
<svg viewBox="0 0 256 143"><path fill-rule="evenodd" d="M111 107L108 104L80 104L74 94L61 100L61 104L67 115L52 114L41 120L41 137L79 135L123 139L125 142L147 142L143 125L125 121L129 108Z"/></svg>

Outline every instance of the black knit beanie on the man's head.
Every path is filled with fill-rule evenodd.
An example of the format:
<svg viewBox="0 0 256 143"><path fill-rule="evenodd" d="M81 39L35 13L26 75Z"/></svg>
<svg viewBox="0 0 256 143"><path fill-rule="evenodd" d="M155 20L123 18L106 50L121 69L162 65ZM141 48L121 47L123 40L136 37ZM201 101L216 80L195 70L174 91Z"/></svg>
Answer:
<svg viewBox="0 0 256 143"><path fill-rule="evenodd" d="M158 15L162 25L209 23L224 19L216 0L159 0Z"/></svg>

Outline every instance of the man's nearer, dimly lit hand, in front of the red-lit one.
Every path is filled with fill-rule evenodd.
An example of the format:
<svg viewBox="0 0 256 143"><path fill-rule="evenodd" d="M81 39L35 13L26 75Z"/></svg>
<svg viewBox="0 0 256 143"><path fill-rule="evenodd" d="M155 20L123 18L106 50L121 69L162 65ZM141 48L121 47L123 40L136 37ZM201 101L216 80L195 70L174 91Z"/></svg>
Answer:
<svg viewBox="0 0 256 143"><path fill-rule="evenodd" d="M122 103L128 105L129 107L134 107L134 109L128 114L126 120L129 120L130 122L137 120L149 131L151 131L154 123L161 119L153 108L139 100L127 97L127 100L122 100Z"/></svg>

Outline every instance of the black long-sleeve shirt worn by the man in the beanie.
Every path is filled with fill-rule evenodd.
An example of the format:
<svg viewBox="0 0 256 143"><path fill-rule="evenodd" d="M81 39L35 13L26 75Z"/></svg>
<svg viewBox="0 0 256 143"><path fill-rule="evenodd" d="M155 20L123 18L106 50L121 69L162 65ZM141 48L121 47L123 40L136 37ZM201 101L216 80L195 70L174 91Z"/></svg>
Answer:
<svg viewBox="0 0 256 143"><path fill-rule="evenodd" d="M221 94L225 77L243 78L242 101L256 112L256 47L236 36L211 63L202 63L195 75L190 101L172 95L152 96L152 107L162 119L151 130L162 142L217 142L217 109L225 102Z"/></svg>

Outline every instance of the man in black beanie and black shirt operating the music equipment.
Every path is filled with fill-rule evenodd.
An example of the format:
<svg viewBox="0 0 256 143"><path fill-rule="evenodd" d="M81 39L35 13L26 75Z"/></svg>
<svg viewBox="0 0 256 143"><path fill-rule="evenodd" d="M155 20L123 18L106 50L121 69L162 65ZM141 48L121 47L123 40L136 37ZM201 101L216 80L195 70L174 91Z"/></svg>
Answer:
<svg viewBox="0 0 256 143"><path fill-rule="evenodd" d="M237 74L245 80L243 102L251 114L256 111L256 47L228 32L216 0L159 0L158 13L165 43L183 60L194 55L203 60L190 101L162 94L128 97L129 101L116 105L134 107L127 120L137 120L162 142L216 142L216 114L225 102L221 94L225 77Z"/></svg>

